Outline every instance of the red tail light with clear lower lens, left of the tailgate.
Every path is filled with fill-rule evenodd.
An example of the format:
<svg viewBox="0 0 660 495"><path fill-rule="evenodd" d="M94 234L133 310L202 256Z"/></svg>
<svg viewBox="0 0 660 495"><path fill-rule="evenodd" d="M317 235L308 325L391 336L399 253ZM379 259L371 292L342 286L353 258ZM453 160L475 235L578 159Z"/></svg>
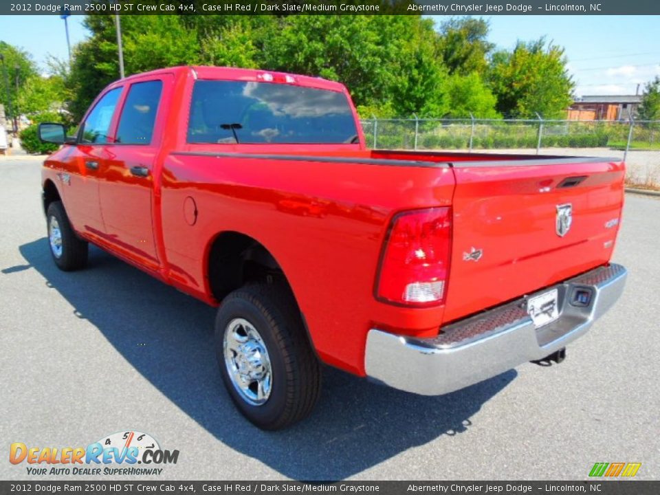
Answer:
<svg viewBox="0 0 660 495"><path fill-rule="evenodd" d="M441 305L449 276L451 232L450 208L395 215L380 260L377 298L414 307Z"/></svg>

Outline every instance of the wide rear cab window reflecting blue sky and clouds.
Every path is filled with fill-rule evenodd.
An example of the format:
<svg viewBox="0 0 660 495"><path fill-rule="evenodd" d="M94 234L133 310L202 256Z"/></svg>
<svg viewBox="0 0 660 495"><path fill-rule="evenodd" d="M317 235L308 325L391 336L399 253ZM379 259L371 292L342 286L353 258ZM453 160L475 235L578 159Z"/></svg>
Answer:
<svg viewBox="0 0 660 495"><path fill-rule="evenodd" d="M274 83L199 80L192 91L189 143L358 142L347 97Z"/></svg>

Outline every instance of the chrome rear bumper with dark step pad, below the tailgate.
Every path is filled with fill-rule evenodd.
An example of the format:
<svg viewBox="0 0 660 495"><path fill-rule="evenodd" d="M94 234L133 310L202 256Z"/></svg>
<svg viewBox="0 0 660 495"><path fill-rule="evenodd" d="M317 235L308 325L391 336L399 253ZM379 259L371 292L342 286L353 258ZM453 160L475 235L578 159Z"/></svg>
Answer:
<svg viewBox="0 0 660 495"><path fill-rule="evenodd" d="M611 264L538 292L558 289L560 311L557 320L540 329L525 309L528 297L443 327L435 338L371 329L366 340L366 374L404 391L441 395L540 360L586 333L621 296L626 274L624 267ZM586 306L573 304L577 289L591 294Z"/></svg>

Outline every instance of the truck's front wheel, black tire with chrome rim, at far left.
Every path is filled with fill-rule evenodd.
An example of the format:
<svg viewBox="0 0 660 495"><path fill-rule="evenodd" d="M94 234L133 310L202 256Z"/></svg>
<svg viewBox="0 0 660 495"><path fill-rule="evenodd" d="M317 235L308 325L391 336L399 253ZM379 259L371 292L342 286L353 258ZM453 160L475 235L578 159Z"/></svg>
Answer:
<svg viewBox="0 0 660 495"><path fill-rule="evenodd" d="M52 254L57 267L64 272L84 268L87 265L89 246L85 241L81 241L74 232L62 201L53 201L48 205L46 222L50 254ZM53 242L54 239L57 239L57 236L52 232L54 225L56 225L60 234L60 250L54 246Z"/></svg>

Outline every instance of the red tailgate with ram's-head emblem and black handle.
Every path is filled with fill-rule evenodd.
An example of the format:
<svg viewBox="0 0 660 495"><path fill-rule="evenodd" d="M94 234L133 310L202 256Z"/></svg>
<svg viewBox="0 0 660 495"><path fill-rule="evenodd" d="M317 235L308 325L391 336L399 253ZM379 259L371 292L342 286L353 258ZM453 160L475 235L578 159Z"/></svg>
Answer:
<svg viewBox="0 0 660 495"><path fill-rule="evenodd" d="M608 262L624 193L624 164L609 160L455 163L445 321Z"/></svg>

